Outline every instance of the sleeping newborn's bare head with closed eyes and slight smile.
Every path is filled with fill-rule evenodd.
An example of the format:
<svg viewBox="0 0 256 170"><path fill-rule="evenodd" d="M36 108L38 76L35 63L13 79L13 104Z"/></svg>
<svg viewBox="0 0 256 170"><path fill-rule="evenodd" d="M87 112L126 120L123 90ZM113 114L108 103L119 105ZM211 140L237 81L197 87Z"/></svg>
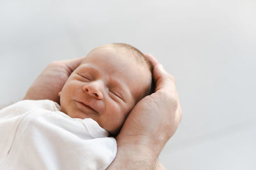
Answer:
<svg viewBox="0 0 256 170"><path fill-rule="evenodd" d="M113 43L93 49L60 93L61 111L92 118L117 134L128 113L152 90L152 65L136 48Z"/></svg>

